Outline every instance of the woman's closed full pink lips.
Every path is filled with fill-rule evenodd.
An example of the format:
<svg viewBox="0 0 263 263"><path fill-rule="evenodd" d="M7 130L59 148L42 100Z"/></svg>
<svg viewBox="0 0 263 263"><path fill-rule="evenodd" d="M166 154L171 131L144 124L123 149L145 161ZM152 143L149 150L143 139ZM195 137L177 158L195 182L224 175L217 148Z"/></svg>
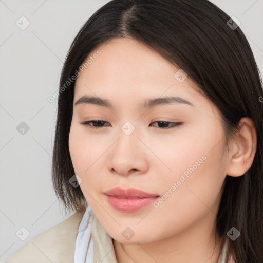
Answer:
<svg viewBox="0 0 263 263"><path fill-rule="evenodd" d="M124 190L116 187L104 192L104 194L109 204L121 212L138 211L159 198L158 194L149 194L135 188Z"/></svg>

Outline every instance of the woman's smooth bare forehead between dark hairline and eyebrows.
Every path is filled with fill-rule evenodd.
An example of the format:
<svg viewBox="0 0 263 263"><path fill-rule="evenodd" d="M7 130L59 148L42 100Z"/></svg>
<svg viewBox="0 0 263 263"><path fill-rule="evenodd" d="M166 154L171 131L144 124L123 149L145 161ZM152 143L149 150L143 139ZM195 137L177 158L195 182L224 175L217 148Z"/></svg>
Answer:
<svg viewBox="0 0 263 263"><path fill-rule="evenodd" d="M99 51L99 52L98 52ZM99 55L95 55L99 54ZM200 88L189 78L175 78L179 68L158 52L132 39L114 39L99 45L86 58L89 64L77 78L74 102L83 95L132 101L138 98L180 96L193 100ZM85 63L84 61L84 63ZM200 98L199 98L200 99Z"/></svg>

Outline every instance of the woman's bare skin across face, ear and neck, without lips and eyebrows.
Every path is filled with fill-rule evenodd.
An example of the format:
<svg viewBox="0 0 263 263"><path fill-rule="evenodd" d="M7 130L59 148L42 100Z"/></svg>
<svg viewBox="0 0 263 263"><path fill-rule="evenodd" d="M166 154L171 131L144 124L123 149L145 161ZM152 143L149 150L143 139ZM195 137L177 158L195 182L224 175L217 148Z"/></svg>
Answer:
<svg viewBox="0 0 263 263"><path fill-rule="evenodd" d="M92 53L98 49L99 57L80 72L74 103L89 95L109 100L114 108L74 106L69 150L85 199L114 238L117 261L217 262L222 242L219 237L215 242L215 219L222 184L227 174L242 176L252 165L254 123L241 119L241 140L231 142L227 154L216 106L190 78L180 83L174 77L179 68L132 39L111 40ZM171 95L194 106L140 108L147 99ZM80 124L91 120L106 122L97 124L98 129L92 128L96 123L91 128ZM135 127L130 135L121 129L127 121ZM156 121L182 125L165 129L172 124ZM124 213L112 208L103 194L119 186L163 196L196 161L194 172L158 207L150 204ZM130 240L122 235L127 227L134 232Z"/></svg>

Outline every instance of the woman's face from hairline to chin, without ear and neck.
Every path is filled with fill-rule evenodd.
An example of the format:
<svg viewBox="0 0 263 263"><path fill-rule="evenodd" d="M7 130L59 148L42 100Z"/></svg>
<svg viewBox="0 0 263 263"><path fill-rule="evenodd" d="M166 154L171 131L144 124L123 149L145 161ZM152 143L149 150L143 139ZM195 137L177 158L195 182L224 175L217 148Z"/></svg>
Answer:
<svg viewBox="0 0 263 263"><path fill-rule="evenodd" d="M82 68L73 103L88 96L112 107L95 100L74 105L70 157L106 232L122 243L146 243L202 226L213 229L228 162L221 158L224 137L215 105L179 68L134 40L99 46ZM190 103L177 99L143 107L166 97ZM92 120L101 122L80 124ZM111 197L115 207L104 194L114 187L159 198L141 199L149 203L137 206L138 198Z"/></svg>

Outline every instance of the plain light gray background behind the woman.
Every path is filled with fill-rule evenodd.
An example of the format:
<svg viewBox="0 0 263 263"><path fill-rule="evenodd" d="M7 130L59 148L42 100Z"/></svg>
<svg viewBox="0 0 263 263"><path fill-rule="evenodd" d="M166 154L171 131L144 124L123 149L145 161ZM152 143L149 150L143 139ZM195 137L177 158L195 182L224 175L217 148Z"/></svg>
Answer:
<svg viewBox="0 0 263 263"><path fill-rule="evenodd" d="M241 22L262 72L263 0L212 2ZM51 183L58 99L50 103L47 98L59 88L74 36L105 3L0 0L0 263L70 215ZM16 25L21 16L30 22L25 30ZM16 129L21 122L29 126L24 135ZM30 232L24 241L16 236L21 227Z"/></svg>

